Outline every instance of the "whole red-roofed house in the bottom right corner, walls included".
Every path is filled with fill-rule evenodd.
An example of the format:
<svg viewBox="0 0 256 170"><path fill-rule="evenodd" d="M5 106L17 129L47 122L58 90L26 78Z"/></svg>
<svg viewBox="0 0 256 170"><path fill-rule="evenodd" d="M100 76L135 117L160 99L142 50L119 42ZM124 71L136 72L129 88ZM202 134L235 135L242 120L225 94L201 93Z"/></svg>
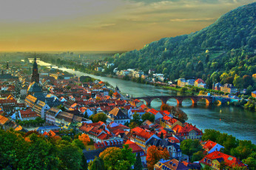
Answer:
<svg viewBox="0 0 256 170"><path fill-rule="evenodd" d="M220 168L220 163L224 162L225 166L230 166L231 168L235 166L239 167L246 167L238 158L232 157L229 154L223 154L222 152L212 152L207 154L203 159L200 161L202 168L205 166L210 166L212 169L222 169Z"/></svg>

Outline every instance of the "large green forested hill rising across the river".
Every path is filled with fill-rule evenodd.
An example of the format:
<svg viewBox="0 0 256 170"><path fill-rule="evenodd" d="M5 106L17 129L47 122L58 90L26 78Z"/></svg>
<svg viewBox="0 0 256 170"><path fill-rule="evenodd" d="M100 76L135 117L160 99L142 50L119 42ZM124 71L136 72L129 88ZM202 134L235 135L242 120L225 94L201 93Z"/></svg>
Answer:
<svg viewBox="0 0 256 170"><path fill-rule="evenodd" d="M221 16L214 24L196 33L162 38L146 44L141 50L107 58L118 69L155 69L166 78L203 78L212 82L233 83L249 75L248 84L235 83L238 88L254 86L256 73L256 3L238 7Z"/></svg>

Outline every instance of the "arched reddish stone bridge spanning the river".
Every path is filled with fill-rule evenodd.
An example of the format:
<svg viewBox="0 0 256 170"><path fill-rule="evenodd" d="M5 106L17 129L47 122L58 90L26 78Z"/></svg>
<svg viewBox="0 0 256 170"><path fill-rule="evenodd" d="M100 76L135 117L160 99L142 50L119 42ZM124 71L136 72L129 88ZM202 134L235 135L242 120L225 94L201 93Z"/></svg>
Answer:
<svg viewBox="0 0 256 170"><path fill-rule="evenodd" d="M206 101L206 104L212 104L213 103L213 100L212 100L212 97L211 96L176 96L176 95L161 95L161 96L146 96L146 97L139 97L139 98L132 98L132 99L142 99L144 101L146 101L146 106L150 106L151 102L156 99L156 98L159 98L162 103L166 104L167 101L170 99L170 98L175 98L176 101L177 101L177 104L178 105L181 105L182 101L186 98L189 98L191 99L192 101L192 104L197 104L198 101L200 101L201 99L204 99Z"/></svg>

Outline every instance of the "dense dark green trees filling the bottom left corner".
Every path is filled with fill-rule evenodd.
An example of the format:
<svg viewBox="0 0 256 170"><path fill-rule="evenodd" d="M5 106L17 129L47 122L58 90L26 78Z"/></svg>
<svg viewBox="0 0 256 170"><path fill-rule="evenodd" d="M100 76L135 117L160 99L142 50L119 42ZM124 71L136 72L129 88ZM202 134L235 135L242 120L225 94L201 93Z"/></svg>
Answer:
<svg viewBox="0 0 256 170"><path fill-rule="evenodd" d="M82 150L67 140L53 140L0 130L0 169L81 169Z"/></svg>

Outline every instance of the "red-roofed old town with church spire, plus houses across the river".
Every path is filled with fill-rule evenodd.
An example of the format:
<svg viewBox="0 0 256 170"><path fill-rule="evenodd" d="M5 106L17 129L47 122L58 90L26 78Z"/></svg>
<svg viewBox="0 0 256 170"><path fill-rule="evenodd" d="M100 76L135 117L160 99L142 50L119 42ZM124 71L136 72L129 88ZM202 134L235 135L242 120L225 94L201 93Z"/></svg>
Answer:
<svg viewBox="0 0 256 170"><path fill-rule="evenodd" d="M4 147L6 150L0 150L3 155L0 169L29 166L26 161L24 165L16 162L19 161L17 157L22 157L18 153L16 160L4 154L4 151L20 149L20 146L11 146L11 140L4 137L4 133L16 134L17 139L24 140L28 146L36 145L38 139L54 143L52 147L61 143L65 148L72 143L76 150L67 149L64 155L58 156L61 163L56 164L63 169L252 167L255 155L252 142L238 141L212 129L203 132L197 125L186 123L186 113L178 107L163 104L161 110L152 109L143 101L127 98L118 86L108 86L107 82L88 76L77 77L58 69L44 67L39 70L36 56L30 61L32 63L21 61L1 65L0 144L8 145ZM142 76L143 72L134 74ZM158 75L158 79L161 78L162 75ZM178 80L178 86L186 85L205 87L201 79ZM215 88L225 93L236 92L229 84L215 84ZM233 140L234 143L228 142ZM81 151L83 156L67 155L74 151ZM44 154L41 158L42 164L50 159ZM33 157L30 159L33 161ZM76 159L75 163L72 159ZM51 169L50 165L41 163L36 166Z"/></svg>

